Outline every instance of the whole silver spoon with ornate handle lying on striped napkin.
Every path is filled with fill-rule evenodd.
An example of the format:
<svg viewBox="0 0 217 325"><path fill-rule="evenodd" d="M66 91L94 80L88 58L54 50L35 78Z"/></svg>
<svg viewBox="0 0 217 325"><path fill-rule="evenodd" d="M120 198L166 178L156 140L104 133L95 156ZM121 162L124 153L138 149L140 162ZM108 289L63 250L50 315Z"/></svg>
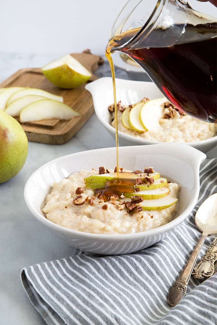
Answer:
<svg viewBox="0 0 217 325"><path fill-rule="evenodd" d="M179 278L173 283L168 302L170 306L177 305L184 297L187 291L188 281L192 270L197 261L197 257L207 236L217 234L217 193L206 199L197 210L195 215L195 224L202 232L202 236L197 243L193 253L186 266L184 267Z"/></svg>

